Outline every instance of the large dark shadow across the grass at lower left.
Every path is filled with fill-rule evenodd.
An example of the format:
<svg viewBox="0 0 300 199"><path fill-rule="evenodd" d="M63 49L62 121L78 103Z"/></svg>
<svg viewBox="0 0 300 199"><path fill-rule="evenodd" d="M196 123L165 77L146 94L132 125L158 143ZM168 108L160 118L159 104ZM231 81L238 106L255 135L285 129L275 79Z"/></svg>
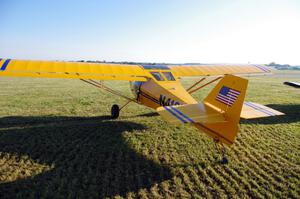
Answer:
<svg viewBox="0 0 300 199"><path fill-rule="evenodd" d="M0 118L0 153L54 165L36 176L0 184L0 198L126 196L170 179L166 166L138 154L123 136L142 129L108 117Z"/></svg>

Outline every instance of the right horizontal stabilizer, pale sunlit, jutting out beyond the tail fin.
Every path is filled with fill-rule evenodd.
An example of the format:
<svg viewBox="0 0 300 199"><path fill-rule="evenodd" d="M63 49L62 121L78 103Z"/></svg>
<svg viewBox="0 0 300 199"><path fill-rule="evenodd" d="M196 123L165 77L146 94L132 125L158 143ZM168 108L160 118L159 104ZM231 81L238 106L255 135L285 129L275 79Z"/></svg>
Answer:
<svg viewBox="0 0 300 199"><path fill-rule="evenodd" d="M241 118L244 119L254 119L276 115L284 115L284 113L254 102L244 102L241 112Z"/></svg>

